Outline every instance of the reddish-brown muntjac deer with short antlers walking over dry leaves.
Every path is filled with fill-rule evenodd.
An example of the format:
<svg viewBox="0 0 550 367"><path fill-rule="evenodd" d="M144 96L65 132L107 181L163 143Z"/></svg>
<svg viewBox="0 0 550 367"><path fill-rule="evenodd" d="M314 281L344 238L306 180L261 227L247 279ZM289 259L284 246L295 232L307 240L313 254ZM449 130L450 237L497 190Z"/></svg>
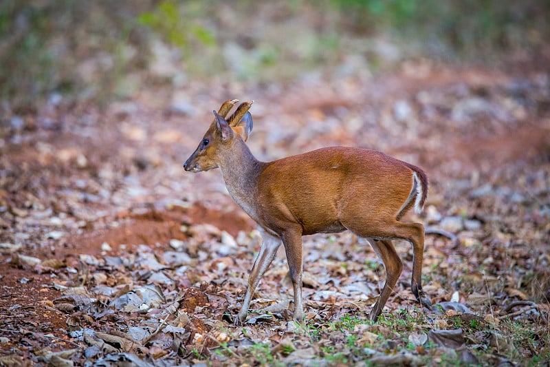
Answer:
<svg viewBox="0 0 550 367"><path fill-rule="evenodd" d="M386 283L370 318L382 313L403 264L391 240L412 244L412 293L430 308L422 291L424 228L400 222L411 207L419 213L428 194L428 178L419 168L369 149L327 147L273 162L256 160L245 141L252 132L252 102L225 101L197 150L184 163L191 172L220 168L235 202L256 221L262 245L252 266L236 323L244 322L250 300L281 242L294 286L294 319L303 319L302 235L346 229L366 238L384 262Z"/></svg>

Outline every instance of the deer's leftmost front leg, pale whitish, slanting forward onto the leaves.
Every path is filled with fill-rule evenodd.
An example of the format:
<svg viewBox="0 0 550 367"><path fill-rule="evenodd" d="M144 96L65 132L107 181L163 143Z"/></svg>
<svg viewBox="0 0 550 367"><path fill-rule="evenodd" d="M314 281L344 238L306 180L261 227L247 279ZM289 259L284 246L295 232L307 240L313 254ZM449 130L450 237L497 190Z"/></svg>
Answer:
<svg viewBox="0 0 550 367"><path fill-rule="evenodd" d="M270 235L265 230L260 228L260 234L262 236L262 245L252 270L250 271L250 276L248 277L248 288L246 289L245 298L243 300L243 306L239 316L235 319L235 324L242 324L248 313L248 308L250 307L250 301L252 300L252 295L258 286L263 273L270 267L270 264L277 253L277 249L281 246L281 238Z"/></svg>

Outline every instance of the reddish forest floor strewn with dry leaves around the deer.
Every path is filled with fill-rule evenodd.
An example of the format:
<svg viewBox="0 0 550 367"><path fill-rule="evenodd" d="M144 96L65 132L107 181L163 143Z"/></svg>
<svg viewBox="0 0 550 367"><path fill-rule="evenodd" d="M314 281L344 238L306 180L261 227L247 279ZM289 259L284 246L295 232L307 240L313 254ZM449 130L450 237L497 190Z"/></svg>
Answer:
<svg viewBox="0 0 550 367"><path fill-rule="evenodd" d="M550 74L408 62L377 77L151 87L102 107L52 96L0 119L0 365L540 365L550 361ZM306 319L280 250L233 326L259 251L218 170L190 174L222 101L254 99L252 152L369 147L423 167L412 249L384 266L350 233L304 238ZM6 109L7 108L7 109ZM455 237L456 236L456 237ZM289 311L290 309L290 311ZM125 365L125 364L124 364Z"/></svg>

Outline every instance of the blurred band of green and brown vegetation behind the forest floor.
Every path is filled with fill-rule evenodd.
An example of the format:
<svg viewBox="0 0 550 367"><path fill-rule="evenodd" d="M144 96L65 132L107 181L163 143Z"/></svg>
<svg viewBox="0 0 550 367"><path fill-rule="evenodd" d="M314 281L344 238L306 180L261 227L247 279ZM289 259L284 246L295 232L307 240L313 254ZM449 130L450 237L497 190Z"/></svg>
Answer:
<svg viewBox="0 0 550 367"><path fill-rule="evenodd" d="M538 0L2 0L0 98L129 97L174 59L180 85L334 72L349 56L360 60L352 73L418 55L487 61L536 50L548 19L550 1Z"/></svg>

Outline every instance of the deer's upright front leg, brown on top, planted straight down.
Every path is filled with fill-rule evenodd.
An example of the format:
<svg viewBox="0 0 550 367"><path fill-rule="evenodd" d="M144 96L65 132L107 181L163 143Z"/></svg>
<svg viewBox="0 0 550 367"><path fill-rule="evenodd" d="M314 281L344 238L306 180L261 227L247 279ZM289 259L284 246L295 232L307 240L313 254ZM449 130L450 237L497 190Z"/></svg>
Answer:
<svg viewBox="0 0 550 367"><path fill-rule="evenodd" d="M304 309L302 305L302 231L301 229L288 230L283 235L283 244L287 253L288 268L292 286L294 288L294 319L302 321Z"/></svg>

